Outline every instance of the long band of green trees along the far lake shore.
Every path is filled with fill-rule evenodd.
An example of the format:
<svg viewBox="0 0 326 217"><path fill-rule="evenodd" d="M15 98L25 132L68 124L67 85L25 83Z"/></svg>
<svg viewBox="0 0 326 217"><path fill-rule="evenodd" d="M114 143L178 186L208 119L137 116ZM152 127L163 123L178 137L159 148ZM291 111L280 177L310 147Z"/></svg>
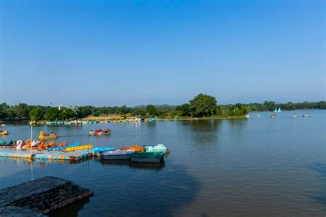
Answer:
<svg viewBox="0 0 326 217"><path fill-rule="evenodd" d="M1 120L31 120L31 121L66 121L73 119L85 118L88 116L108 116L110 114L118 114L121 116L137 116L144 118L157 116L159 118L175 118L179 117L242 117L248 112L274 111L276 107L281 110L312 110L326 109L326 102L303 102L303 103L275 103L274 101L265 101L261 103L249 104L230 104L218 105L217 100L213 96L207 94L198 94L189 103L172 106L155 106L146 105L144 107L94 107L94 106L74 106L58 107L27 105L19 103L18 105L7 105L0 103L0 119Z"/></svg>

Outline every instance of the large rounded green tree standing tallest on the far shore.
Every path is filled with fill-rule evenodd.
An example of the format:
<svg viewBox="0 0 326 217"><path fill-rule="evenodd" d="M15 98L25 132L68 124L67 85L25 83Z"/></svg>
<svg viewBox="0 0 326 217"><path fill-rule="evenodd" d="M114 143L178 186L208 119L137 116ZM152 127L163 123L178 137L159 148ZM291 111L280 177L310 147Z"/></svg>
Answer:
<svg viewBox="0 0 326 217"><path fill-rule="evenodd" d="M212 116L217 110L217 101L214 96L198 94L189 101L189 109L192 116Z"/></svg>

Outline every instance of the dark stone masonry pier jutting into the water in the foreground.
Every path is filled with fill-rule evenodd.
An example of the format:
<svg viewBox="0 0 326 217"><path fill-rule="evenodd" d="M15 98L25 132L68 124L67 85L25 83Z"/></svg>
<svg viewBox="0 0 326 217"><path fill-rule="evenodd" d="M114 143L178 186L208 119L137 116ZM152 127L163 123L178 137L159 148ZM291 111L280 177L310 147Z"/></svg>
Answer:
<svg viewBox="0 0 326 217"><path fill-rule="evenodd" d="M43 216L92 195L69 180L44 176L0 189L0 216Z"/></svg>

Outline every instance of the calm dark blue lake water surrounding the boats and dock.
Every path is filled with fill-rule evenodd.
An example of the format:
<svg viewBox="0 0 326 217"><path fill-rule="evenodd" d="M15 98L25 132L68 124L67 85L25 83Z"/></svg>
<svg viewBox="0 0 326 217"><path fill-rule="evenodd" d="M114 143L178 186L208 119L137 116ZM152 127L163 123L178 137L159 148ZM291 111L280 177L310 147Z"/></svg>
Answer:
<svg viewBox="0 0 326 217"><path fill-rule="evenodd" d="M325 216L325 110L282 112L277 118L260 114L241 120L36 126L34 138L44 130L62 136L58 142L115 148L163 143L171 154L165 165L0 158L0 188L58 176L94 191L57 216ZM109 127L111 135L87 136L96 127ZM28 125L6 128L10 135L0 139L30 135Z"/></svg>

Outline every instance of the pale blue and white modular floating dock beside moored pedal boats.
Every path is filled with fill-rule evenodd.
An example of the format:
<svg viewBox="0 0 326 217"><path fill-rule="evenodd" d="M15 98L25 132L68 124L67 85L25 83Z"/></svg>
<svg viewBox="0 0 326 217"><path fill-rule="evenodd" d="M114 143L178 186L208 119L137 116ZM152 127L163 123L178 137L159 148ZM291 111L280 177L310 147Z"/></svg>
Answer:
<svg viewBox="0 0 326 217"><path fill-rule="evenodd" d="M16 149L0 149L0 157L8 158L25 158L25 159L39 159L39 160L56 160L56 161L82 161L91 157L89 150L78 150L75 152L62 151L42 151L37 150L23 151Z"/></svg>

